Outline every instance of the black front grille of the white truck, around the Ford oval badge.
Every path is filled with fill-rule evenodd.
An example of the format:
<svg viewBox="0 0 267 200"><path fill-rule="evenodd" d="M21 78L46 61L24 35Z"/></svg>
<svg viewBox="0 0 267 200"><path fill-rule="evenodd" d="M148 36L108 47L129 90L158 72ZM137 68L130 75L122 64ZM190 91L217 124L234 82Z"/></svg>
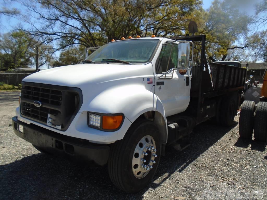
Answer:
<svg viewBox="0 0 267 200"><path fill-rule="evenodd" d="M22 82L20 111L23 117L46 124L48 114L66 130L81 106L81 90L73 87ZM34 101L42 103L40 107Z"/></svg>

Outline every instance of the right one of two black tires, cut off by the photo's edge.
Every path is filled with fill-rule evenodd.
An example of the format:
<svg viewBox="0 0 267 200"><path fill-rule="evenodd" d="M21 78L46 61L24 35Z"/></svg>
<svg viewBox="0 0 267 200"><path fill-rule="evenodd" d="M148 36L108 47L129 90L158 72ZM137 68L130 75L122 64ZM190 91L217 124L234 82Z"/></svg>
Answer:
<svg viewBox="0 0 267 200"><path fill-rule="evenodd" d="M267 102L259 102L255 115L254 138L257 142L267 140Z"/></svg>

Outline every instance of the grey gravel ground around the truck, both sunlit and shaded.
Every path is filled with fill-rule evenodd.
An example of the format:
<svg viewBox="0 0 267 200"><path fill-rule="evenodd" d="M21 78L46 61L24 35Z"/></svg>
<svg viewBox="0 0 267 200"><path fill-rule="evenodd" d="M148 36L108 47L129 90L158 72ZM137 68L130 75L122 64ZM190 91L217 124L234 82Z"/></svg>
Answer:
<svg viewBox="0 0 267 200"><path fill-rule="evenodd" d="M191 146L166 149L153 181L125 194L107 167L90 168L45 155L13 133L18 92L0 91L0 199L267 199L267 150L238 140L230 128L195 127Z"/></svg>

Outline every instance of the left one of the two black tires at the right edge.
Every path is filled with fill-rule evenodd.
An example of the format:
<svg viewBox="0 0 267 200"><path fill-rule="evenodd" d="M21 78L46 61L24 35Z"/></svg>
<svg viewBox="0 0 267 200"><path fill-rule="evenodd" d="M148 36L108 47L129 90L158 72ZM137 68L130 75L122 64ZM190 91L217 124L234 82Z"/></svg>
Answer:
<svg viewBox="0 0 267 200"><path fill-rule="evenodd" d="M242 103L239 117L239 137L243 139L251 139L254 128L254 112L255 102L244 101Z"/></svg>

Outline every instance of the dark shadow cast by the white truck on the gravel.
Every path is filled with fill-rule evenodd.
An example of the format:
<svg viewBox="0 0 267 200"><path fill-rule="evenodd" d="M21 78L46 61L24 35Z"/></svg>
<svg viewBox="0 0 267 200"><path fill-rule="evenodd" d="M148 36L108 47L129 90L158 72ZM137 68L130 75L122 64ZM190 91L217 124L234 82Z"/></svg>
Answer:
<svg viewBox="0 0 267 200"><path fill-rule="evenodd" d="M125 194L113 186L107 167L89 168L65 159L33 154L0 166L1 199L142 199L173 173L180 173L235 127L218 127L209 122L195 127L191 146L184 151L167 147L153 182L138 194Z"/></svg>

